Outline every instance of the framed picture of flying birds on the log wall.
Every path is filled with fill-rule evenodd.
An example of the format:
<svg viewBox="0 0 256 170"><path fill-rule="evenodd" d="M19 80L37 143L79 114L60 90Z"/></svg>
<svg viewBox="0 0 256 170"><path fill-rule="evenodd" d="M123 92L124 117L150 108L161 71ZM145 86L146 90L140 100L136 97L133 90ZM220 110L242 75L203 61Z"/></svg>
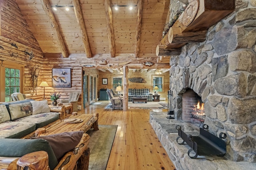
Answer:
<svg viewBox="0 0 256 170"><path fill-rule="evenodd" d="M52 87L71 87L71 68L52 68Z"/></svg>

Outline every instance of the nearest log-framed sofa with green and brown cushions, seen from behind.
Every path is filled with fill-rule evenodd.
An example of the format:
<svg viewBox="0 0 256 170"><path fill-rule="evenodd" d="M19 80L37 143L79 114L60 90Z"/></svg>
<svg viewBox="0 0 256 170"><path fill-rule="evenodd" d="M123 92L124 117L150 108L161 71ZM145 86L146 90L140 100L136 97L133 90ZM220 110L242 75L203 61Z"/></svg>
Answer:
<svg viewBox="0 0 256 170"><path fill-rule="evenodd" d="M0 138L0 169L88 169L88 143L84 131L65 132L31 139Z"/></svg>

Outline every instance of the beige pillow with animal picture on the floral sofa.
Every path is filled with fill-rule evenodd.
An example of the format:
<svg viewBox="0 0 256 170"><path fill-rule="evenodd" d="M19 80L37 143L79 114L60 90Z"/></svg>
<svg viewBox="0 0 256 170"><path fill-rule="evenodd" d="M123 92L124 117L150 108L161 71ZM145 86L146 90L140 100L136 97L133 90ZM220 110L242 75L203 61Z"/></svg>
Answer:
<svg viewBox="0 0 256 170"><path fill-rule="evenodd" d="M10 104L9 110L12 121L21 117L32 115L32 105L30 102L21 104Z"/></svg>

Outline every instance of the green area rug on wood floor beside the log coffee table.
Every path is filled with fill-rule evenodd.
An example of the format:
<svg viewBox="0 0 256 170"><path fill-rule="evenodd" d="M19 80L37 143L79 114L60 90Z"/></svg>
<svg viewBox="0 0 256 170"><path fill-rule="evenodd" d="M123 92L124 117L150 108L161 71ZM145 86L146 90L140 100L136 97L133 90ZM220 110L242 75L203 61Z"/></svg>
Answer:
<svg viewBox="0 0 256 170"><path fill-rule="evenodd" d="M89 170L105 170L118 125L99 125L99 130L90 129Z"/></svg>

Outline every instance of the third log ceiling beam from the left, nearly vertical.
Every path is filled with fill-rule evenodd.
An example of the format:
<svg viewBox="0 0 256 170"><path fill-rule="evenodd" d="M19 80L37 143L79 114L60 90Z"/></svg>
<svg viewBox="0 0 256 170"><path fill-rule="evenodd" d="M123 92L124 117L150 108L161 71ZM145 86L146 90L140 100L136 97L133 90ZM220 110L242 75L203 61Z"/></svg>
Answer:
<svg viewBox="0 0 256 170"><path fill-rule="evenodd" d="M108 46L111 57L116 56L115 52L115 42L114 42L114 28L112 21L112 6L110 0L104 0L105 12L106 12L106 24L108 32Z"/></svg>

